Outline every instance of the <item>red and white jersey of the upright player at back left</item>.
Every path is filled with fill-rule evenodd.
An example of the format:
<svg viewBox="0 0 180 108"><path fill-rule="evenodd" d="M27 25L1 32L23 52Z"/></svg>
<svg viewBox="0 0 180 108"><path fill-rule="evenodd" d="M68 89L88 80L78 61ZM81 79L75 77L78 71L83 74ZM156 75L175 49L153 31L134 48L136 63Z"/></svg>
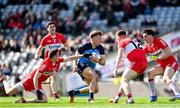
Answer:
<svg viewBox="0 0 180 108"><path fill-rule="evenodd" d="M56 33L56 37L52 38L51 34L47 34L41 41L40 45L45 48L45 58L48 57L49 52L56 50L63 46L66 43L65 37Z"/></svg>

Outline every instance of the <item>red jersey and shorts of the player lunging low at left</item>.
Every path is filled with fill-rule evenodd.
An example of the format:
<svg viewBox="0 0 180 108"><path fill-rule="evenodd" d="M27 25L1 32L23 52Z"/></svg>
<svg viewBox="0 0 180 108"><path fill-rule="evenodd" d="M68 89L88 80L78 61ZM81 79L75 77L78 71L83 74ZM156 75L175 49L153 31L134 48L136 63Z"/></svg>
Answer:
<svg viewBox="0 0 180 108"><path fill-rule="evenodd" d="M34 90L34 83L33 78L36 72L41 73L42 75L38 79L38 88L41 89L42 82L46 81L51 75L57 73L60 68L60 63L64 61L64 58L60 57L59 61L56 63L52 63L50 58L46 58L43 60L43 62L40 64L39 68L32 71L30 74L28 74L24 80L22 80L23 87L26 91Z"/></svg>

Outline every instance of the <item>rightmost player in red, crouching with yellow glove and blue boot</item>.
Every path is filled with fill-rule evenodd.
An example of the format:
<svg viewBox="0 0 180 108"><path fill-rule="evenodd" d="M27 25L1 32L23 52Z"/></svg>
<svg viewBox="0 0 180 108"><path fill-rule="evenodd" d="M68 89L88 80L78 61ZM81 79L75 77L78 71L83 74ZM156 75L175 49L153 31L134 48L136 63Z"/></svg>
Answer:
<svg viewBox="0 0 180 108"><path fill-rule="evenodd" d="M172 81L172 77L178 69L178 62L173 57L168 44L160 38L155 38L154 31L151 29L146 29L143 31L143 38L147 42L147 45L144 48L145 52L151 54L151 58L153 60L157 60L158 62L158 65L150 69L148 72L149 86L151 90L150 102L157 100L154 87L154 77L156 75L163 75L163 80L174 92L175 97L169 101L180 99L180 94L175 83Z"/></svg>

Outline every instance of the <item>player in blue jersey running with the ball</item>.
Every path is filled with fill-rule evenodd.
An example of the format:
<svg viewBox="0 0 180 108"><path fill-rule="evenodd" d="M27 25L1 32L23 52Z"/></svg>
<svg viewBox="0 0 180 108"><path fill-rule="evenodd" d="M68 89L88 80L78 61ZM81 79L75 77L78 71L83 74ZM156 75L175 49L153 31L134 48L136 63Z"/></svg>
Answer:
<svg viewBox="0 0 180 108"><path fill-rule="evenodd" d="M89 34L90 42L80 46L76 55L89 54L88 58L81 57L78 61L74 62L74 70L81 76L81 78L87 83L88 87L71 90L68 92L70 96L70 102L74 102L74 96L80 93L89 93L88 102L94 102L94 93L97 93L99 76L95 72L96 64L102 66L106 63L106 56L104 48L101 45L101 37L103 33L101 31L94 30Z"/></svg>

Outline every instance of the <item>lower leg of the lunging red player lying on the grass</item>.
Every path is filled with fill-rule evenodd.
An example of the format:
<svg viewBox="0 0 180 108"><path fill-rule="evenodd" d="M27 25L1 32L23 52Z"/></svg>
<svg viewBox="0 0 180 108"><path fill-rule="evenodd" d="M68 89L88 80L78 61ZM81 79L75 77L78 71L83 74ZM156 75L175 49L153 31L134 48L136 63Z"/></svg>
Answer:
<svg viewBox="0 0 180 108"><path fill-rule="evenodd" d="M26 100L26 103L47 103L47 96L45 91L43 89L40 89L40 91L43 93L41 100L34 98L34 99ZM32 93L37 96L36 90L33 90Z"/></svg>

